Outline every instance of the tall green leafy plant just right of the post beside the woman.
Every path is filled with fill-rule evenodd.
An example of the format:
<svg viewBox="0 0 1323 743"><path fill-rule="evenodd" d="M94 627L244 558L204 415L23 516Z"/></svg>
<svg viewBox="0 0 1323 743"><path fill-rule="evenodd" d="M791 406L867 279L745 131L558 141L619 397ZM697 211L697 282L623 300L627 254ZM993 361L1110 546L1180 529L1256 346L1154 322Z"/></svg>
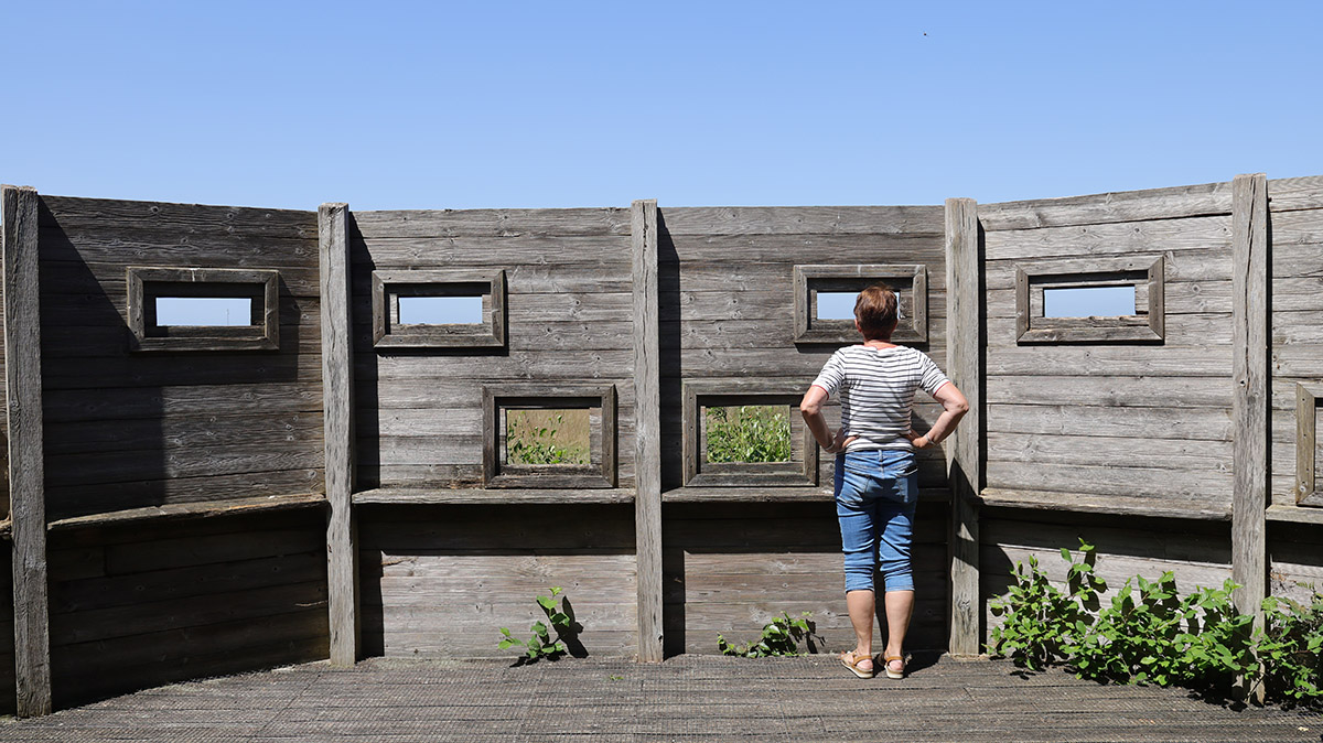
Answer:
<svg viewBox="0 0 1323 743"><path fill-rule="evenodd" d="M1033 555L1028 568L1023 562L1015 565L1011 571L1015 584L991 603L992 613L1003 617L1002 627L992 629L994 654L1043 670L1065 657L1066 646L1082 640L1091 624L1090 609L1107 583L1094 572L1094 546L1080 539L1080 553L1081 559L1076 561L1070 550L1061 549L1061 559L1070 565L1065 592L1052 586Z"/></svg>

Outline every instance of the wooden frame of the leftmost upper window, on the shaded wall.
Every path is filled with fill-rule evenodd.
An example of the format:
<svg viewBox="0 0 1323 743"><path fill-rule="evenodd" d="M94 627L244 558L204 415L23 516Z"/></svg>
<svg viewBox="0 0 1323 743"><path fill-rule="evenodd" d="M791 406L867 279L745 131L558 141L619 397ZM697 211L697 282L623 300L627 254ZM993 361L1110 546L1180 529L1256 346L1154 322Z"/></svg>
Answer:
<svg viewBox="0 0 1323 743"><path fill-rule="evenodd" d="M263 268L180 268L130 266L124 274L130 349L278 350L280 348L280 272ZM242 290L241 290L242 287ZM230 297L253 300L253 325L156 325L156 297Z"/></svg>

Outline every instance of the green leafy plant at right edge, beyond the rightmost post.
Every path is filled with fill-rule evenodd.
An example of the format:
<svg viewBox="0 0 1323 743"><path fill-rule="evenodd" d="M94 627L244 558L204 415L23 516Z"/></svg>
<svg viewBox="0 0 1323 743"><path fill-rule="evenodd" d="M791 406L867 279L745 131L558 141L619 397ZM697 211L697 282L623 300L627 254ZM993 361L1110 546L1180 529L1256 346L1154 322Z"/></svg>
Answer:
<svg viewBox="0 0 1323 743"><path fill-rule="evenodd" d="M1263 628L1254 632L1267 694L1290 705L1323 705L1323 592L1308 604L1263 600Z"/></svg>

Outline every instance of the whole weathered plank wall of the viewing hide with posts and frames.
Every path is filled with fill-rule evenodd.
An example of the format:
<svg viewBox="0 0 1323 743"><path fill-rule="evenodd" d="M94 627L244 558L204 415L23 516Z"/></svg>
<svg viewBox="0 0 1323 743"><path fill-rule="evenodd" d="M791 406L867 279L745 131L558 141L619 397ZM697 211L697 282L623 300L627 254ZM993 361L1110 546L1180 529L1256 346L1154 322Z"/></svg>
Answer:
<svg viewBox="0 0 1323 743"><path fill-rule="evenodd" d="M1029 555L1113 587L1323 579L1323 178L934 206L318 212L4 189L0 711L364 656L508 656L561 586L582 652L659 661L845 615L833 460L795 405L848 320L972 403L919 457L912 648L975 656ZM1048 292L1132 287L1123 317ZM247 325L156 323L242 296ZM406 321L467 297L474 323ZM819 313L822 312L822 316ZM773 405L791 461L708 461L705 409ZM507 414L586 411L520 464ZM33 415L32 411L41 411ZM919 395L916 428L941 407ZM826 410L831 423L839 406ZM578 652L579 648L576 648Z"/></svg>

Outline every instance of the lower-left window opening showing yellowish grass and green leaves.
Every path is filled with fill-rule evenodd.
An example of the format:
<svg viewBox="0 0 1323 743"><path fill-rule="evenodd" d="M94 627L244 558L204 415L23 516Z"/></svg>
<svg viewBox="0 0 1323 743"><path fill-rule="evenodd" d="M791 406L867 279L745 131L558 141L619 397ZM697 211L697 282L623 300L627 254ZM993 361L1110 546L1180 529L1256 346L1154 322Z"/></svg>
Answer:
<svg viewBox="0 0 1323 743"><path fill-rule="evenodd" d="M503 407L501 414L504 464L593 464L593 439L601 440L602 435L602 409Z"/></svg>

